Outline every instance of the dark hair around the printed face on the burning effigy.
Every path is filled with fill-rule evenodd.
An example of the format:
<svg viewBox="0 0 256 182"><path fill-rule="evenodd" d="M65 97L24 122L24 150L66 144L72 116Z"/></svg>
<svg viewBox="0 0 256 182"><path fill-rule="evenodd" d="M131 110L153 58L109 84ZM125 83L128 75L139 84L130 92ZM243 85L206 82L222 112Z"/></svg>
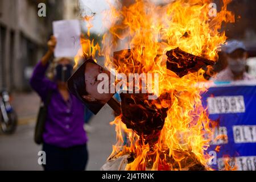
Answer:
<svg viewBox="0 0 256 182"><path fill-rule="evenodd" d="M87 63L96 64L95 61L92 59L85 60L84 63L71 76L71 78L69 78L68 89L74 96L76 96L80 101L82 101L88 107L88 109L90 109L94 114L96 114L104 105L99 104L99 102L97 101L87 101L82 97L88 95L88 93L86 92L85 85L85 68Z"/></svg>

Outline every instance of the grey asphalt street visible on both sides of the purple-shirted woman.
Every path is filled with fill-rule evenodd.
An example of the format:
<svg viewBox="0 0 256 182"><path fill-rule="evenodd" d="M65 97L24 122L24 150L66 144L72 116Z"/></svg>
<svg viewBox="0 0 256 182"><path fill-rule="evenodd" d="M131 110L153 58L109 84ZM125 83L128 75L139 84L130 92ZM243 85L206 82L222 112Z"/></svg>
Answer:
<svg viewBox="0 0 256 182"><path fill-rule="evenodd" d="M112 152L115 143L113 110L109 106L102 108L100 113L92 118L88 133L89 162L88 171L100 170L101 166ZM13 135L0 134L0 170L42 170L38 164L38 152L42 146L37 146L33 141L35 119L23 119L23 124L18 126Z"/></svg>

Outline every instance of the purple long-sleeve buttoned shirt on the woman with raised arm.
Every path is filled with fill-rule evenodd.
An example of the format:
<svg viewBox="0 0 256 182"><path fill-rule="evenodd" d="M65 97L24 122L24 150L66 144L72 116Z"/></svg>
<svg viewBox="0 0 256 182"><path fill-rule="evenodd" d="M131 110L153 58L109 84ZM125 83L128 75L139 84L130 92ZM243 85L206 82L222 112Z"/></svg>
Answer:
<svg viewBox="0 0 256 182"><path fill-rule="evenodd" d="M85 106L70 94L69 101L64 101L56 82L46 78L48 64L38 63L30 80L32 88L46 101L49 90L52 90L51 102L48 105L44 142L53 146L68 148L85 144L88 140L84 131Z"/></svg>

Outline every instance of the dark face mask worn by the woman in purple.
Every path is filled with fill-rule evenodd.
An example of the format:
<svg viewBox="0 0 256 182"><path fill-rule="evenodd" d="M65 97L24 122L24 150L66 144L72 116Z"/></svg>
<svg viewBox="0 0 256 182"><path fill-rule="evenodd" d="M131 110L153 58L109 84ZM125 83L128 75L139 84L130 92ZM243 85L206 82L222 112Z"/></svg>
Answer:
<svg viewBox="0 0 256 182"><path fill-rule="evenodd" d="M56 69L56 79L62 82L67 82L69 77L72 75L73 67L71 64L57 65Z"/></svg>

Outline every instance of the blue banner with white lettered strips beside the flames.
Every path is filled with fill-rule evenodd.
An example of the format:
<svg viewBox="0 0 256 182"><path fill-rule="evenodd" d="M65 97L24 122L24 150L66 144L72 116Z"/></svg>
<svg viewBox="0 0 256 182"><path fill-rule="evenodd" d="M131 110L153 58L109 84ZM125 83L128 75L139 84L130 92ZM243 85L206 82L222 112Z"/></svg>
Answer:
<svg viewBox="0 0 256 182"><path fill-rule="evenodd" d="M212 167L223 169L224 156L233 158L237 170L256 170L256 84L214 84L203 94L203 105L208 108L209 118L218 122L209 151L215 152L217 160ZM214 154L214 152L210 153ZM233 164L232 164L233 163Z"/></svg>

